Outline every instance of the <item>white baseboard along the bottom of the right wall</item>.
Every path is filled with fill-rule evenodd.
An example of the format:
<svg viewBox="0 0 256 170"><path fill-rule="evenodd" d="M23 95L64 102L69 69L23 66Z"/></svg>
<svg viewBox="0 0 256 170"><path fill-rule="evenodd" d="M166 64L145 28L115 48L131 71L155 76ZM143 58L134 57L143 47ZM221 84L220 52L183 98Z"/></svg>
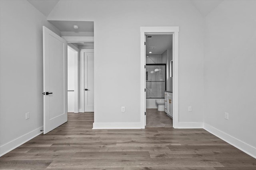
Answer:
<svg viewBox="0 0 256 170"><path fill-rule="evenodd" d="M239 139L236 139L235 137L232 137L228 135L227 133L220 131L219 129L216 129L215 127L212 127L211 125L208 125L207 123L204 123L204 129L216 137L222 139L223 141L229 143L230 145L236 147L237 149L242 150L246 154L256 158L256 148L248 145L247 143L244 143L243 141L240 141Z"/></svg>

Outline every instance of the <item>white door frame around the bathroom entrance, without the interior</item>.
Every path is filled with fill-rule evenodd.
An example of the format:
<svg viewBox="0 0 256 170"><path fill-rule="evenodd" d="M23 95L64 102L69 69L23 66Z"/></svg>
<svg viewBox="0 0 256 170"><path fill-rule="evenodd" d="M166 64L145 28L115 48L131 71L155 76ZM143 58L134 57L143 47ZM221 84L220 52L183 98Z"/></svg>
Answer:
<svg viewBox="0 0 256 170"><path fill-rule="evenodd" d="M148 33L173 33L173 127L178 128L178 35L179 27L140 27L140 123L144 129L145 122L145 45L144 37Z"/></svg>

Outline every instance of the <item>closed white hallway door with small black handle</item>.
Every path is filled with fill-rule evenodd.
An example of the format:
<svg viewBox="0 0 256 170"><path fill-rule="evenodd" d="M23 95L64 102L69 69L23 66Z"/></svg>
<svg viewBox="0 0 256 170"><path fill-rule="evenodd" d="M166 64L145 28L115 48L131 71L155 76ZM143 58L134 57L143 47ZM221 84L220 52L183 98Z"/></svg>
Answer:
<svg viewBox="0 0 256 170"><path fill-rule="evenodd" d="M84 111L94 111L94 50L84 49Z"/></svg>

